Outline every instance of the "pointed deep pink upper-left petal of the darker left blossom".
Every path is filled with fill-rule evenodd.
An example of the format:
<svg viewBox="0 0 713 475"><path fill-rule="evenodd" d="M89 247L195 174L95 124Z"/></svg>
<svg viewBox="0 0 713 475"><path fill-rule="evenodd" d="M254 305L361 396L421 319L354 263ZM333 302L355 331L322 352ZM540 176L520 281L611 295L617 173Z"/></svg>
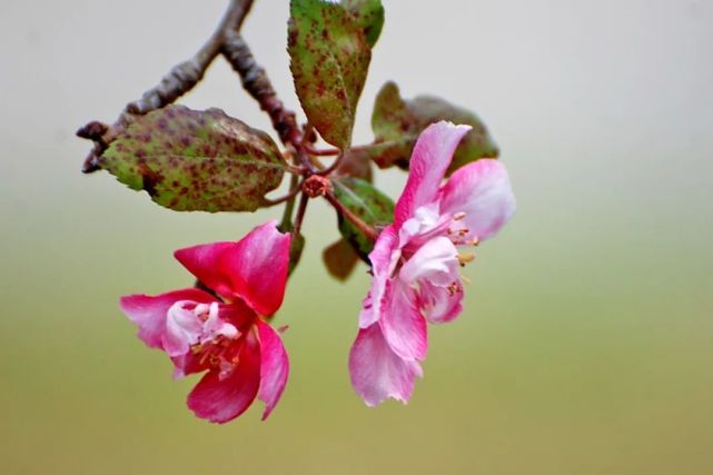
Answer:
<svg viewBox="0 0 713 475"><path fill-rule="evenodd" d="M232 297L230 276L220 267L221 256L234 249L236 243L212 243L178 249L174 253L176 259L204 283L208 288L224 297Z"/></svg>

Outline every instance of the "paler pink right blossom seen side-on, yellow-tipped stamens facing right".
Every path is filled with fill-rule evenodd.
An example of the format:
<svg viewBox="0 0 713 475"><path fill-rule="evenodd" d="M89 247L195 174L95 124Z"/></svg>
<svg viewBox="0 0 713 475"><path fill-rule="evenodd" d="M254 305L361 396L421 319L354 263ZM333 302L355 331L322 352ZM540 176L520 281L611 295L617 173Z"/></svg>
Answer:
<svg viewBox="0 0 713 475"><path fill-rule="evenodd" d="M474 258L456 246L494 236L515 212L507 171L477 160L442 184L468 126L438 122L423 131L394 222L369 255L374 281L349 354L351 385L369 406L406 403L426 357L426 323L452 321L463 309L458 268Z"/></svg>

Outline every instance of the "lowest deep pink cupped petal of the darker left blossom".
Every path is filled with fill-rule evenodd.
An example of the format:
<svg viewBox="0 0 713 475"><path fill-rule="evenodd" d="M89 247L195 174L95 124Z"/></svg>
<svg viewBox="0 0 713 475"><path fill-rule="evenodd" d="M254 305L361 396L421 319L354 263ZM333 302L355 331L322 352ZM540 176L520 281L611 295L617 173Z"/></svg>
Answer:
<svg viewBox="0 0 713 475"><path fill-rule="evenodd" d="M210 370L188 395L188 407L211 423L227 423L242 414L260 387L260 345L252 331L245 337L238 366L225 378Z"/></svg>

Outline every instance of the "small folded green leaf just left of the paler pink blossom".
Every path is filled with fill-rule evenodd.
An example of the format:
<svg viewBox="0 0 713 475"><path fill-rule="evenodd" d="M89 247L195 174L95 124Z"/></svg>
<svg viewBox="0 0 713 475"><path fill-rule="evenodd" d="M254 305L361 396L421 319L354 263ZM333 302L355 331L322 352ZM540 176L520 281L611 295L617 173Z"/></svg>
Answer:
<svg viewBox="0 0 713 475"><path fill-rule="evenodd" d="M367 181L358 178L335 180L334 194L339 202L374 228L380 228L394 221L394 201ZM357 255L368 263L368 254L374 248L372 239L341 217L339 217L339 231Z"/></svg>

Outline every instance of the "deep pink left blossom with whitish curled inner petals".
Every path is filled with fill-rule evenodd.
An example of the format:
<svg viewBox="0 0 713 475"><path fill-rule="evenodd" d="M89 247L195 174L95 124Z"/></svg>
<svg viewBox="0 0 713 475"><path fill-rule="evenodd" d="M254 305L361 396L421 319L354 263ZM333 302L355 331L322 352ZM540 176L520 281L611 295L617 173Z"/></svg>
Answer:
<svg viewBox="0 0 713 475"><path fill-rule="evenodd" d="M198 417L226 423L257 397L265 419L279 400L289 362L266 318L283 303L289 243L270 221L237 243L177 250L176 259L218 297L187 288L121 298L139 338L170 356L175 377L207 372L188 395Z"/></svg>

